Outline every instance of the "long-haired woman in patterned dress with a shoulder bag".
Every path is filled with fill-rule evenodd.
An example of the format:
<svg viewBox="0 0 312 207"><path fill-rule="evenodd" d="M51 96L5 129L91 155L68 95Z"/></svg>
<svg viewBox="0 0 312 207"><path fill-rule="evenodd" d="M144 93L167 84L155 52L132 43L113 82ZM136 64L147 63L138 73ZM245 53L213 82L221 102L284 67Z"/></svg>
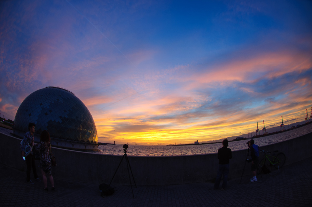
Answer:
<svg viewBox="0 0 312 207"><path fill-rule="evenodd" d="M40 142L36 146L37 150L40 150L40 165L42 172L42 180L44 183L44 189L48 191L47 188L47 176L49 176L51 182L51 189L54 191L54 181L51 173L51 158L50 158L50 134L48 131L44 130L40 135Z"/></svg>

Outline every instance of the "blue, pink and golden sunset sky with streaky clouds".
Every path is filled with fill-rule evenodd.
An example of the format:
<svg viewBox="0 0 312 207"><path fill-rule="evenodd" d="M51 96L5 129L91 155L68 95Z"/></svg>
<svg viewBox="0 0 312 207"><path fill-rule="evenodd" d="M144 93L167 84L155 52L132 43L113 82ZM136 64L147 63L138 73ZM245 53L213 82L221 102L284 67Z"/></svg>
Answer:
<svg viewBox="0 0 312 207"><path fill-rule="evenodd" d="M99 142L194 143L301 122L312 1L0 1L0 113L72 91Z"/></svg>

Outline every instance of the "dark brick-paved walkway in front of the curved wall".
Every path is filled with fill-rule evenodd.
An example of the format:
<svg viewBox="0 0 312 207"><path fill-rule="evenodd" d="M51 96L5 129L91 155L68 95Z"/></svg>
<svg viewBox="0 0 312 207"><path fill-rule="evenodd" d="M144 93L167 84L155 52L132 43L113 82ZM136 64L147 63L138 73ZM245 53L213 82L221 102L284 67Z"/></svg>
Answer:
<svg viewBox="0 0 312 207"><path fill-rule="evenodd" d="M210 182L133 186L135 198L130 185L113 185L115 193L103 198L98 184L60 179L54 180L55 192L46 192L43 182L28 184L26 172L0 164L0 206L311 206L311 164L312 157L258 176L254 183L250 175L241 184L240 178L232 179L227 190L213 190Z"/></svg>

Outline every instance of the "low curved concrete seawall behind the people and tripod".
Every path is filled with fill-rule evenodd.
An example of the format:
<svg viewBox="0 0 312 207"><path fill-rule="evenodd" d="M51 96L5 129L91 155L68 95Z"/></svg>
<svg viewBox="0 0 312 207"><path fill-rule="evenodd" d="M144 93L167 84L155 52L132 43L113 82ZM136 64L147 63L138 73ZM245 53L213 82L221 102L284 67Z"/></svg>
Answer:
<svg viewBox="0 0 312 207"><path fill-rule="evenodd" d="M310 150L311 137L312 132L284 142L261 146L260 150L273 152L278 149L280 152L283 151L286 155L285 165L287 165L312 156ZM22 160L19 148L21 139L3 133L0 133L0 139L0 162L6 166L26 171L26 163ZM57 162L57 166L52 169L53 176L68 181L109 184L123 157L78 152L55 147L52 147L52 151ZM229 179L240 177L242 173L251 175L250 163L246 164L243 172L246 155L247 149L233 152L233 158L230 160ZM218 168L216 153L188 156L128 156L128 158L136 185L207 182L216 177ZM126 163L124 158L112 184L130 184ZM37 169L37 171L40 174L40 169ZM133 180L131 182L134 185Z"/></svg>

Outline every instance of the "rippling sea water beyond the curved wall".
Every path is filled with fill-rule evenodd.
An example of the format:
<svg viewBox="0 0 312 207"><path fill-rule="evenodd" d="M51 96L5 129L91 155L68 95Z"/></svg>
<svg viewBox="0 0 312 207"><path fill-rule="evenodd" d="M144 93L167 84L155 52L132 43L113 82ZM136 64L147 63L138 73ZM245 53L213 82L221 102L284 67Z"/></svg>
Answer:
<svg viewBox="0 0 312 207"><path fill-rule="evenodd" d="M288 139L299 137L312 132L312 124L306 126L295 128L290 131L266 136L253 138L255 144L260 146L265 146L273 144L276 142L282 142ZM250 139L245 139L241 141L229 142L229 148L232 151L247 149L248 145L246 142ZM222 147L222 143L214 144L199 144L199 145L176 145L176 146L147 146L147 145L129 145L127 149L127 154L129 156L178 156L178 155L198 155L198 154L208 154L216 153L218 149ZM99 145L99 151L95 153L109 154L109 155L123 155L124 148L121 144L116 145ZM277 149L278 150L278 149Z"/></svg>

